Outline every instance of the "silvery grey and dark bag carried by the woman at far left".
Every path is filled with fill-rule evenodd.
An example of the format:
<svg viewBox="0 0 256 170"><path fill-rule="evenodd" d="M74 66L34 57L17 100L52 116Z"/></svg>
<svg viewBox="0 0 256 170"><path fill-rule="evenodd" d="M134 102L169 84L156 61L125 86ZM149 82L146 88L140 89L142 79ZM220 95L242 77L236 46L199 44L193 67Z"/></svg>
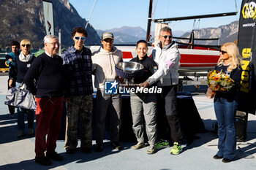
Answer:
<svg viewBox="0 0 256 170"><path fill-rule="evenodd" d="M34 96L29 90L23 88L10 88L7 92L4 104L23 109L36 109Z"/></svg>

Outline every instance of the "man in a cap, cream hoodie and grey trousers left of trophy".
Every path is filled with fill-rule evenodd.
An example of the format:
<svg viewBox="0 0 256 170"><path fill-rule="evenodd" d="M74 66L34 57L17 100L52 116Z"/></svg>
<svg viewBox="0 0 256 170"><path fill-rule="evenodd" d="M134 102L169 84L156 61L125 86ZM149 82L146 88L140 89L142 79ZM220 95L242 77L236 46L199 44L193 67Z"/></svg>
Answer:
<svg viewBox="0 0 256 170"><path fill-rule="evenodd" d="M112 33L103 33L102 47L92 54L92 70L95 75L94 86L97 88L97 107L95 111L96 152L102 152L103 149L105 118L108 109L110 112L110 145L113 149L121 150L121 146L118 143L121 126L121 95L118 93L105 94L105 82L114 82L116 80L115 66L123 61L123 53L113 46L113 40Z"/></svg>

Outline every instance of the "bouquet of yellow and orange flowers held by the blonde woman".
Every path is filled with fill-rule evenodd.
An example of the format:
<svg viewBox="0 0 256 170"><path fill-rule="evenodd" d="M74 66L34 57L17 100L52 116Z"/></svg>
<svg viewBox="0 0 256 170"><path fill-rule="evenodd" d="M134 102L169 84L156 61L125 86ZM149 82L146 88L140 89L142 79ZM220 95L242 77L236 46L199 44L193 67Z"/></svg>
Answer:
<svg viewBox="0 0 256 170"><path fill-rule="evenodd" d="M208 73L207 84L211 88L211 94L207 94L208 98L213 98L216 91L230 90L234 85L234 80L227 76L227 74L222 71L212 71Z"/></svg>

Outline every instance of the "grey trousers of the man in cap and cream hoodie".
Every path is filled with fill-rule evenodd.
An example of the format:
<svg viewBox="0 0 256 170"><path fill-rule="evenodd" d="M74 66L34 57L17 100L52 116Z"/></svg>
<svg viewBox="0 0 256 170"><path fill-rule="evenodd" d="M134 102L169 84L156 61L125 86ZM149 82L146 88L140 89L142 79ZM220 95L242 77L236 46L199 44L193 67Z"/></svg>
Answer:
<svg viewBox="0 0 256 170"><path fill-rule="evenodd" d="M105 94L103 90L97 90L96 104L96 143L103 143L105 118L108 110L110 112L110 141L118 142L121 127L121 95Z"/></svg>

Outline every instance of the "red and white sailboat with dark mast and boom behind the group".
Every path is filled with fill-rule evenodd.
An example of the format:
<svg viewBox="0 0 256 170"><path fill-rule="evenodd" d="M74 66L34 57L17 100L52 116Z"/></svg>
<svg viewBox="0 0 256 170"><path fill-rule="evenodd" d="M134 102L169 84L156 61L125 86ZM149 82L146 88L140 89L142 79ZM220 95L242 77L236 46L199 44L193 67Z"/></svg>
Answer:
<svg viewBox="0 0 256 170"><path fill-rule="evenodd" d="M238 12L225 12L225 13L218 13L218 14L211 14L211 15L195 15L195 16L187 16L187 17L179 17L179 18L159 18L159 19L152 19L152 7L153 7L153 0L149 0L149 9L148 9L148 26L147 26L147 33L146 33L146 41L148 42L148 54L150 55L153 46L150 42L151 38L151 22L154 23L165 23L169 21L175 20L191 20L191 19L199 19L199 18L214 18L214 17L223 17L223 16L230 16L236 15ZM189 39L189 44L178 42L178 50L181 53L181 61L180 61L180 68L179 73L180 75L187 75L193 73L194 75L197 72L209 72L214 69L216 66L217 61L219 60L219 45L195 45L195 40L218 40L218 38L214 39L197 39L194 37L194 32L190 38L181 38L174 36L173 39ZM132 58L137 56L135 52L135 45L118 45L118 49L123 52L124 61L129 61ZM99 45L91 45L89 46L91 52L99 49ZM207 73L205 73L207 74Z"/></svg>

